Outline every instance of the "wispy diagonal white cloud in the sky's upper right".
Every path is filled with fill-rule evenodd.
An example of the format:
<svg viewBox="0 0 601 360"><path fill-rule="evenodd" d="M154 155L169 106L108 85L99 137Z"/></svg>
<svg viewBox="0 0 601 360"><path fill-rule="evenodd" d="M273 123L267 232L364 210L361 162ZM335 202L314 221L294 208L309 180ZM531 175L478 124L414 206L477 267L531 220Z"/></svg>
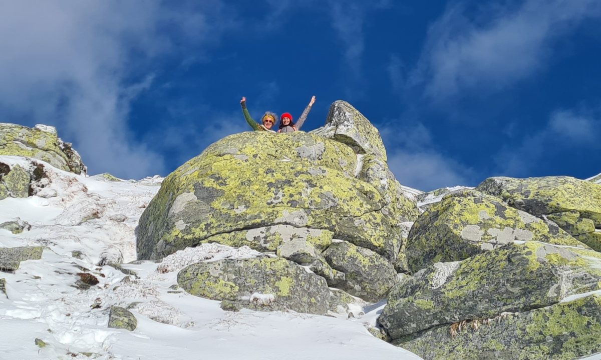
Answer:
<svg viewBox="0 0 601 360"><path fill-rule="evenodd" d="M466 90L498 91L544 70L559 38L600 16L597 0L495 4L471 17L463 5L454 5L430 26L409 85L424 86L435 99Z"/></svg>

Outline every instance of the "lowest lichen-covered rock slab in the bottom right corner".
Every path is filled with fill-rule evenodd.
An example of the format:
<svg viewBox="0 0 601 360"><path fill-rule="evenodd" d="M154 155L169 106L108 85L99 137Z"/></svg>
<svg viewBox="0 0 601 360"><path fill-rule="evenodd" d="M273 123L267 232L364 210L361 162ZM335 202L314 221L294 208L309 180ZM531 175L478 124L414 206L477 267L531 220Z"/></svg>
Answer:
<svg viewBox="0 0 601 360"><path fill-rule="evenodd" d="M424 360L573 360L601 352L601 295L441 325L393 341Z"/></svg>

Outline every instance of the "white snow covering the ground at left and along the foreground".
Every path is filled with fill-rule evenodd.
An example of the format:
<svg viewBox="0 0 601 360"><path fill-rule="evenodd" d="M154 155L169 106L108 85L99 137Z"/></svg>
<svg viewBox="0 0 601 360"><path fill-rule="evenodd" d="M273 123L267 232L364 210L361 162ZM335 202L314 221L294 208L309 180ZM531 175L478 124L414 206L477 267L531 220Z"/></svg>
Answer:
<svg viewBox="0 0 601 360"><path fill-rule="evenodd" d="M0 161L31 166L19 157ZM8 299L0 295L0 359L419 359L365 329L383 304L350 320L228 312L219 301L172 288L189 263L255 256L250 248L205 244L162 263L127 263L122 271L108 265L136 259L134 229L162 179L108 181L45 167L50 181L37 189L39 196L0 201L0 223L31 224L18 235L0 229L0 247L49 247L14 274L0 272L8 293ZM99 284L78 289L82 271ZM107 327L111 305L130 305L135 331ZM47 346L36 346L36 338Z"/></svg>

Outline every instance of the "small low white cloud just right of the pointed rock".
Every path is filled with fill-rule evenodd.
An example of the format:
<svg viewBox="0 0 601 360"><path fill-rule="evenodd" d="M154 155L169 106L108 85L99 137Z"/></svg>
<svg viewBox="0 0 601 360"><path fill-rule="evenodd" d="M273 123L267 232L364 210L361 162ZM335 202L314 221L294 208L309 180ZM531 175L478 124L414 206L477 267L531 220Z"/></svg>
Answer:
<svg viewBox="0 0 601 360"><path fill-rule="evenodd" d="M403 185L430 191L469 185L474 178L471 169L436 150L430 131L419 122L411 127L389 124L380 127L380 135L388 151L388 166Z"/></svg>

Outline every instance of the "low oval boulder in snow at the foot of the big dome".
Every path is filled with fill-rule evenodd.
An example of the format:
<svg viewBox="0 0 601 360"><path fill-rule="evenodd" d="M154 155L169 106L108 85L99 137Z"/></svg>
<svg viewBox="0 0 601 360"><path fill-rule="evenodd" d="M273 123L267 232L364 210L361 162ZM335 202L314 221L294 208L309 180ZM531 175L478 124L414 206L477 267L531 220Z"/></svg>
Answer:
<svg viewBox="0 0 601 360"><path fill-rule="evenodd" d="M192 295L255 310L328 313L325 279L281 257L195 263L177 274L177 283Z"/></svg>

